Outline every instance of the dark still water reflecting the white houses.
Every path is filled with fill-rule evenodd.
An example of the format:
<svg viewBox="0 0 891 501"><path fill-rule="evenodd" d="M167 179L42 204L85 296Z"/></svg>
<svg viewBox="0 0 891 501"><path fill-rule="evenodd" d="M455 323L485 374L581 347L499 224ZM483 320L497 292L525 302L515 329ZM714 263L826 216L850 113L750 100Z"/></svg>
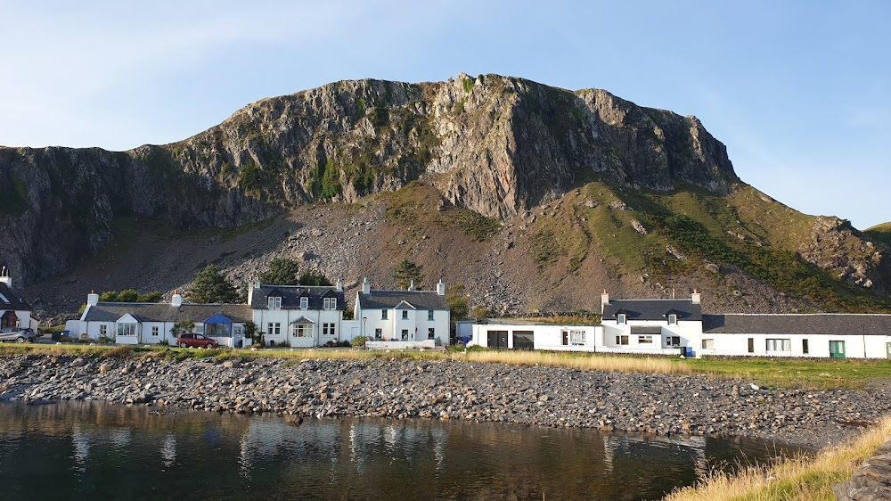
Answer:
<svg viewBox="0 0 891 501"><path fill-rule="evenodd" d="M658 499L796 448L494 423L0 404L0 498Z"/></svg>

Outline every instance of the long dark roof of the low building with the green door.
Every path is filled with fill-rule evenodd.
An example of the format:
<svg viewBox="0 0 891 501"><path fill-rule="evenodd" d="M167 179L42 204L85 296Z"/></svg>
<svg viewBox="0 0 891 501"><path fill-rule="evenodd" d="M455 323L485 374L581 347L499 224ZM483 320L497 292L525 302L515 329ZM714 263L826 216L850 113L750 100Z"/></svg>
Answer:
<svg viewBox="0 0 891 501"><path fill-rule="evenodd" d="M702 333L891 336L891 315L842 313L703 315Z"/></svg>

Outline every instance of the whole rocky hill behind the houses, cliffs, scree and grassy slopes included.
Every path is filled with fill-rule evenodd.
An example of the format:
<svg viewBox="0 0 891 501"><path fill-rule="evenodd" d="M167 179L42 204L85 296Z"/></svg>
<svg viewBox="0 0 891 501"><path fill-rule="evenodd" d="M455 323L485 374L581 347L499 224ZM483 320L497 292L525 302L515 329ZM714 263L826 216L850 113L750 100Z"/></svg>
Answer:
<svg viewBox="0 0 891 501"><path fill-rule="evenodd" d="M514 312L595 308L577 292L592 287L885 308L891 276L885 244L742 183L699 119L497 75L337 82L128 152L0 148L0 242L49 310L92 288L166 291L211 261L249 280L272 255L380 285L414 259ZM128 271L147 262L149 279Z"/></svg>

